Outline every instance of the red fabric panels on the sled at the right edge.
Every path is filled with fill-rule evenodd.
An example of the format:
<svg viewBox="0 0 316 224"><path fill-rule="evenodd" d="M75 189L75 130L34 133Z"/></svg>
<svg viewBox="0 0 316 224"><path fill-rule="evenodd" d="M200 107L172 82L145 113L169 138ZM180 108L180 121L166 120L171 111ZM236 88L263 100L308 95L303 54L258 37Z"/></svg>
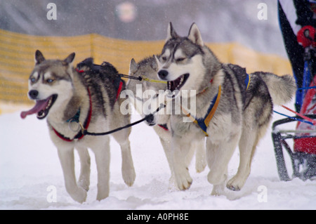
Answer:
<svg viewBox="0 0 316 224"><path fill-rule="evenodd" d="M310 84L315 86L316 84L316 75L314 80ZM305 95L303 105L301 108L301 114L316 114L316 89L309 89ZM310 124L305 124L303 122L298 122L296 130L314 130L315 126ZM309 133L302 133L300 135L310 136ZM316 137L315 138L298 138L294 139L294 150L296 152L306 152L311 154L316 154Z"/></svg>

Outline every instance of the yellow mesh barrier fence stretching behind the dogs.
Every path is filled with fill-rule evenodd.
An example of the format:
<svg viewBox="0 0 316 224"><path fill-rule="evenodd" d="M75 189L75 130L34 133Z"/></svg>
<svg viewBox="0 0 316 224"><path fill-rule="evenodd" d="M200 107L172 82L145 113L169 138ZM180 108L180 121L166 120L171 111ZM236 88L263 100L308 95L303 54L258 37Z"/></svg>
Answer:
<svg viewBox="0 0 316 224"><path fill-rule="evenodd" d="M239 44L207 44L222 62L275 74L291 74L289 61L277 55L252 51ZM0 101L32 103L27 98L27 79L34 67L34 53L39 49L46 58L64 59L76 53L74 65L88 57L96 63L110 62L122 74L129 72L129 62L160 53L164 41L126 41L99 34L76 37L39 37L0 29Z"/></svg>

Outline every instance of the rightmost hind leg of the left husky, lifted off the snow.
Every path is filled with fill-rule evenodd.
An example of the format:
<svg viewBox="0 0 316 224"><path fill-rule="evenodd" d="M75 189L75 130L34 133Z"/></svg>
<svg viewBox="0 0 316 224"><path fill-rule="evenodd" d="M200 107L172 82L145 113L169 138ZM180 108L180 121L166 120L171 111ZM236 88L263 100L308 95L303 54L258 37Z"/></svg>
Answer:
<svg viewBox="0 0 316 224"><path fill-rule="evenodd" d="M136 173L131 155L131 144L129 142L129 133L131 128L113 133L112 136L121 147L121 174L124 183L131 187L135 181Z"/></svg>

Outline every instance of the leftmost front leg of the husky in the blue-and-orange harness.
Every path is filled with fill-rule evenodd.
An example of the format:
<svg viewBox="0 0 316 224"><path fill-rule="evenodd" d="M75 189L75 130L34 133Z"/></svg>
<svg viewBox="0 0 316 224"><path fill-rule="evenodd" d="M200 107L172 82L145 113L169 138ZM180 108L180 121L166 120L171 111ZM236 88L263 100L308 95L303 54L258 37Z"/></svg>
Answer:
<svg viewBox="0 0 316 224"><path fill-rule="evenodd" d="M171 141L173 172L176 178L176 183L180 190L187 190L192 184L185 157L190 151L190 143L184 141L183 138L173 137Z"/></svg>

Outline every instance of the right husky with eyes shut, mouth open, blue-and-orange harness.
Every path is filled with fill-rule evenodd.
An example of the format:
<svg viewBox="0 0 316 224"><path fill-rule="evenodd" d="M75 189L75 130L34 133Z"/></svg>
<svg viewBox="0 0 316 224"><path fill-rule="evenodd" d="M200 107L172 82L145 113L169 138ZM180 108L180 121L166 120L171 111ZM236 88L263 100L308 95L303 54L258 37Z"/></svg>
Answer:
<svg viewBox="0 0 316 224"><path fill-rule="evenodd" d="M196 91L196 113L183 110L170 118L171 165L176 183L180 190L190 187L192 178L182 155L187 154L192 143L206 136L206 161L210 169L207 178L214 186L212 194L223 190L228 163L237 145L239 169L226 187L240 190L249 176L256 145L270 124L273 104L291 100L296 91L294 78L268 72L249 75L238 65L219 62L204 45L195 23L187 37L179 37L171 23L167 33L159 56L158 77L168 81L174 98L182 97L183 90ZM194 122L183 122L184 117Z"/></svg>

